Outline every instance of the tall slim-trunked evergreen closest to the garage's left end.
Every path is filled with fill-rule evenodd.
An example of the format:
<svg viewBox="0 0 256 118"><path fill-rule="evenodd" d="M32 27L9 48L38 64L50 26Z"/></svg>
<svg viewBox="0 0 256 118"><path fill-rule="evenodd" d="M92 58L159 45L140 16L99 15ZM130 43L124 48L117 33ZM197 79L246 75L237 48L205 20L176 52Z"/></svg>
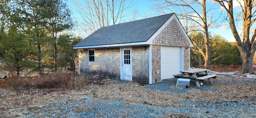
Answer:
<svg viewBox="0 0 256 118"><path fill-rule="evenodd" d="M70 10L63 0L47 0L47 31L51 38L54 47L54 72L58 70L58 35L64 31L72 28L73 21L70 16Z"/></svg>

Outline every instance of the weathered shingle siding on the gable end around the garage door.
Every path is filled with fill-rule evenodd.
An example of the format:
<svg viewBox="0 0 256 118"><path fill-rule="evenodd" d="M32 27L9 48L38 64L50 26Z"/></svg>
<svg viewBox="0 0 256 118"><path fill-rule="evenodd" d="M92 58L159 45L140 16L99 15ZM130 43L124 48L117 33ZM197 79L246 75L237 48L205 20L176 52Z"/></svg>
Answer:
<svg viewBox="0 0 256 118"><path fill-rule="evenodd" d="M158 36L153 40L152 46L152 83L158 83L161 81L161 72L156 73L157 70L161 70L161 47L162 46L174 46L184 47L184 70L190 68L189 58L190 51L186 47L190 47L190 43L186 39L186 36L180 29L180 26L176 20L172 20L170 24L162 30Z"/></svg>

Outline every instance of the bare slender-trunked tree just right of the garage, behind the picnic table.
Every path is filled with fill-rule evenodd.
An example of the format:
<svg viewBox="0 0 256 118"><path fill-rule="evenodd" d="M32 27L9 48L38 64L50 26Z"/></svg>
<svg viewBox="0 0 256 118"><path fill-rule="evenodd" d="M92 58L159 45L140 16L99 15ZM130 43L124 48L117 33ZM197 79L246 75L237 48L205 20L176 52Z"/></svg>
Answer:
<svg viewBox="0 0 256 118"><path fill-rule="evenodd" d="M172 12L175 12L178 17L182 17L185 20L191 21L192 24L197 24L200 26L200 28L191 27L190 30L195 29L203 29L201 31L204 32L204 40L205 40L205 47L206 50L204 51L204 65L206 68L210 68L210 45L209 45L209 33L208 28L210 26L214 26L214 23L217 20L214 20L214 12L212 10L217 10L217 7L206 0L155 0L157 4L155 4L159 9L165 8L168 10L171 10ZM208 4L209 3L209 4ZM209 7L206 7L207 6ZM183 10L180 10L179 7L182 7ZM177 9L176 9L177 8ZM183 12L185 11L185 12ZM211 15L209 15L211 14ZM218 14L219 17L216 17L217 19L220 18L220 14ZM192 25L190 24L190 25ZM186 24L186 28L188 28L188 24ZM190 30L187 30L187 32L190 32ZM197 42L194 42L197 43ZM193 44L194 44L193 43ZM194 44L195 45L195 44ZM200 49L199 49L200 50Z"/></svg>

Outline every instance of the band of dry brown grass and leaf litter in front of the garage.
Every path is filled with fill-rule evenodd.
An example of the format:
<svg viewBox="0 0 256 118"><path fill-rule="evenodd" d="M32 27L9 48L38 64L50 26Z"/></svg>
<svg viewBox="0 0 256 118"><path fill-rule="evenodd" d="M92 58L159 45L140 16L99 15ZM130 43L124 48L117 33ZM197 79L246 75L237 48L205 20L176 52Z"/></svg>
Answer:
<svg viewBox="0 0 256 118"><path fill-rule="evenodd" d="M51 81L57 78L58 82L51 85ZM18 78L19 82L14 84L15 78L0 80L0 109L16 110L17 108L28 108L31 112L40 107L43 103L66 101L79 101L83 96L92 95L98 99L117 99L130 102L149 104L152 106L176 106L175 104L183 101L205 101L218 103L221 101L238 102L241 100L253 100L256 98L256 85L246 84L255 83L255 79L241 79L231 77L217 77L218 81L238 81L236 84L213 83L216 90L204 91L195 88L186 89L186 93L164 92L160 90L149 90L139 83L119 83L118 80L92 79L83 76L72 75L47 75L45 78L30 77ZM16 80L16 81L18 81ZM43 82L38 82L38 81ZM246 81L246 83L243 83ZM48 86L39 86L49 84ZM20 89L15 89L18 87ZM174 89L180 87L171 86ZM65 99L64 99L65 98ZM252 104L255 104L254 102ZM177 106L184 107L184 106ZM90 110L79 108L79 111ZM2 113L1 112L1 113ZM166 114L172 117L179 114Z"/></svg>

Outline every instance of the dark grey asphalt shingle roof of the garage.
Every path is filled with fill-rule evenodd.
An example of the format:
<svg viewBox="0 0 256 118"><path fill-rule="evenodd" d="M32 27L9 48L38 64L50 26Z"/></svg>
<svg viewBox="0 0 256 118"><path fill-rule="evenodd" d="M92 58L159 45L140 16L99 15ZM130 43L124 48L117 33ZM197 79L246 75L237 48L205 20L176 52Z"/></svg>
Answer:
<svg viewBox="0 0 256 118"><path fill-rule="evenodd" d="M74 47L144 42L173 14L102 27L77 43Z"/></svg>

